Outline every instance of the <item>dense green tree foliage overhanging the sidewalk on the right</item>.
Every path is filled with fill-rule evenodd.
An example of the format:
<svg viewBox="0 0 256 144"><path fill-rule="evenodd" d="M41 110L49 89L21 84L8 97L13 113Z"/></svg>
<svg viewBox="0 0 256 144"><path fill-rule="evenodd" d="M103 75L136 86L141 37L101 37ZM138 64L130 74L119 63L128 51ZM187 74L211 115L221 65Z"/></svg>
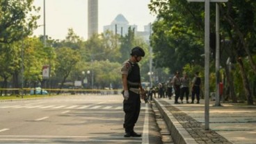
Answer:
<svg viewBox="0 0 256 144"><path fill-rule="evenodd" d="M230 57L232 63L239 64L243 91L248 104L253 104L248 75L241 59L247 59L255 72L255 8L256 1L228 1L219 3L221 10L221 64L226 66ZM204 42L204 3L188 3L186 0L151 0L149 8L157 14L153 24L151 45L156 66L168 67L171 71L185 70L186 64L203 66L200 57ZM215 6L210 10L211 66L215 60ZM203 55L202 55L203 56ZM193 69L193 68L192 68ZM186 69L188 71L188 69ZM213 67L210 69L214 73ZM226 72L230 76L230 71ZM213 77L211 77L213 79ZM249 78L250 79L250 78ZM230 82L229 87L232 87ZM230 88L231 89L231 88ZM253 88L255 89L255 87ZM230 90L231 91L231 90ZM230 92L232 93L232 92Z"/></svg>

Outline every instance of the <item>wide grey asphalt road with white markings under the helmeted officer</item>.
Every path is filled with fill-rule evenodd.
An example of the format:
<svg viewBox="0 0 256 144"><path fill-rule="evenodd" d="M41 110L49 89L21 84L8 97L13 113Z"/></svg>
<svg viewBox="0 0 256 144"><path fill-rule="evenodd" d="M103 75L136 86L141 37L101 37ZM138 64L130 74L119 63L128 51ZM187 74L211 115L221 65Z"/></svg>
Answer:
<svg viewBox="0 0 256 144"><path fill-rule="evenodd" d="M122 96L58 96L0 102L0 143L149 143L145 103L136 132L124 138Z"/></svg>

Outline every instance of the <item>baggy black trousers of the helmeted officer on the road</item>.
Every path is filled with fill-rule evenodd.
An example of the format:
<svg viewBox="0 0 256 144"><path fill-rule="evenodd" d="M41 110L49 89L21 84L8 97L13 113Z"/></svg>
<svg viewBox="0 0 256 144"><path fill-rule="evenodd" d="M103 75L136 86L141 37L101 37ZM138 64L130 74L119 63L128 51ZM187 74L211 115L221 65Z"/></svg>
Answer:
<svg viewBox="0 0 256 144"><path fill-rule="evenodd" d="M125 132L134 132L134 125L138 120L141 111L141 98L138 93L129 91L128 100L124 100L123 109L125 111Z"/></svg>

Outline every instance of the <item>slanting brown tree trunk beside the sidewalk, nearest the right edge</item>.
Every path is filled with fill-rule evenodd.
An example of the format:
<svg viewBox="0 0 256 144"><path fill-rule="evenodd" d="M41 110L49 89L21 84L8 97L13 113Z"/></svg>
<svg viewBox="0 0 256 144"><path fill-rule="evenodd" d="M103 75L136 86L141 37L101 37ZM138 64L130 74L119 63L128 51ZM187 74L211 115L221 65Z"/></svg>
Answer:
<svg viewBox="0 0 256 144"><path fill-rule="evenodd" d="M240 71L241 71L241 77L243 79L243 88L244 88L244 91L245 91L245 94L246 94L247 104L248 105L253 105L253 96L252 96L252 93L250 91L248 78L246 76L246 71L244 70L243 61L241 60L241 57L239 57L237 59L237 62L239 63L239 68L240 68Z"/></svg>

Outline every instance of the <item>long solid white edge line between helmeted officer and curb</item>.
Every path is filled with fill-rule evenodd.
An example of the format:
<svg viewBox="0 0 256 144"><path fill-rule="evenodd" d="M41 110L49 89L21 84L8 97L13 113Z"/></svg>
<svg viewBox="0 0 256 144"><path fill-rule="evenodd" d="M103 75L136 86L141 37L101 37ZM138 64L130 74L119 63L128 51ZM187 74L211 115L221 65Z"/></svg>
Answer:
<svg viewBox="0 0 256 144"><path fill-rule="evenodd" d="M150 143L149 139L149 117L148 117L148 105L145 105L145 118L144 118L144 125L143 125L143 136L142 136L142 143L147 144Z"/></svg>

